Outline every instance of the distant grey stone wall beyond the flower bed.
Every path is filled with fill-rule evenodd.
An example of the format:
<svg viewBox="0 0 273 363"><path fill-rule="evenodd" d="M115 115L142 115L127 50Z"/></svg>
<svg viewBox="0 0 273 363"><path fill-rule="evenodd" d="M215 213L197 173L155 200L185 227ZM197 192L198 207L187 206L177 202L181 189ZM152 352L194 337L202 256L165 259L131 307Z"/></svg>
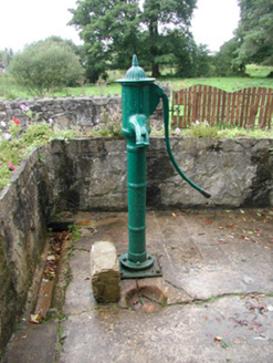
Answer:
<svg viewBox="0 0 273 363"><path fill-rule="evenodd" d="M170 95L168 83L159 84L166 94ZM60 128L75 127L82 133L88 132L98 121L103 122L104 113L122 111L122 96L81 96L81 97L54 97L0 101L0 121L8 123L12 117L19 118L22 125L28 117L22 113L20 105L30 107L33 114L39 115L39 120L53 121L53 126ZM151 116L151 126L162 125L162 104L159 103L155 114Z"/></svg>

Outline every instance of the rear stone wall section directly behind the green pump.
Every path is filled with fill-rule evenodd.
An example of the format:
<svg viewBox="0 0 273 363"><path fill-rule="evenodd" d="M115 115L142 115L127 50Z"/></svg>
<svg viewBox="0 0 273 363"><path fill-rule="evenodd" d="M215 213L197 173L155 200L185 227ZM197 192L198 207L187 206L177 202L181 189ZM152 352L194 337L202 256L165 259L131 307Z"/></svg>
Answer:
<svg viewBox="0 0 273 363"><path fill-rule="evenodd" d="M174 155L186 175L212 197L188 186L169 160L165 139L151 137L147 149L147 207L151 209L273 205L273 139L171 137ZM65 155L65 165L61 165ZM59 157L61 209L124 210L126 151L123 138L53 143ZM66 172L64 172L66 169Z"/></svg>

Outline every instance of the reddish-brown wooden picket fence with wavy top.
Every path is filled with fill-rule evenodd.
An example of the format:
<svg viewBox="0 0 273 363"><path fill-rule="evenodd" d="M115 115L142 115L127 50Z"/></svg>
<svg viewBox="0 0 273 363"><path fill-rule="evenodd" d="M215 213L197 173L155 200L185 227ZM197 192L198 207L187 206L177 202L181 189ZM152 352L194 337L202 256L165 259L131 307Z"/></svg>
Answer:
<svg viewBox="0 0 273 363"><path fill-rule="evenodd" d="M251 87L225 92L208 85L193 85L172 92L172 126L186 128L191 123L208 122L239 127L271 128L273 89Z"/></svg>

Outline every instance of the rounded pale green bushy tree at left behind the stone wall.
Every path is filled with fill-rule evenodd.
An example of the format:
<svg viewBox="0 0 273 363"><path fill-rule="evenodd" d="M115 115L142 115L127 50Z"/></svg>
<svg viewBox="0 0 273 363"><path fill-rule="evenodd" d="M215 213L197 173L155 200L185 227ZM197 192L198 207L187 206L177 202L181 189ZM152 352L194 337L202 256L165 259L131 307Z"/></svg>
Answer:
<svg viewBox="0 0 273 363"><path fill-rule="evenodd" d="M39 96L75 84L83 74L72 48L53 40L25 46L22 53L13 55L9 71L19 85Z"/></svg>

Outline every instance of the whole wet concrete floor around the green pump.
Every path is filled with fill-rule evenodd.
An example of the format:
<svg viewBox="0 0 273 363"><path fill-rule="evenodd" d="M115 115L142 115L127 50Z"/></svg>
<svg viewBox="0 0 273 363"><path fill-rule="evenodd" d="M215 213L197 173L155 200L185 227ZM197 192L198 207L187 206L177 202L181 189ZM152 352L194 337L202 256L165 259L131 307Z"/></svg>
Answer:
<svg viewBox="0 0 273 363"><path fill-rule="evenodd" d="M70 260L59 362L272 362L272 209L147 212L147 251L162 278L123 280L114 304L93 297L90 249L107 239L125 253L127 215L75 218L85 234ZM167 302L138 309L147 289Z"/></svg>

